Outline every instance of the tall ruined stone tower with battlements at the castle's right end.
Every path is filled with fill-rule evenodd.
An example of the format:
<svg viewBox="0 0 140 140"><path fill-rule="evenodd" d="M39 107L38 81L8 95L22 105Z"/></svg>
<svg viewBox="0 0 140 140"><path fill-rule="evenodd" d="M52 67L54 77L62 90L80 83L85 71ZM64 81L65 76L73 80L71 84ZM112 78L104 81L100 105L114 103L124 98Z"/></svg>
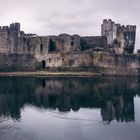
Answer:
<svg viewBox="0 0 140 140"><path fill-rule="evenodd" d="M109 47L115 53L133 53L136 38L136 26L115 24L111 19L104 19L101 35L107 37Z"/></svg>

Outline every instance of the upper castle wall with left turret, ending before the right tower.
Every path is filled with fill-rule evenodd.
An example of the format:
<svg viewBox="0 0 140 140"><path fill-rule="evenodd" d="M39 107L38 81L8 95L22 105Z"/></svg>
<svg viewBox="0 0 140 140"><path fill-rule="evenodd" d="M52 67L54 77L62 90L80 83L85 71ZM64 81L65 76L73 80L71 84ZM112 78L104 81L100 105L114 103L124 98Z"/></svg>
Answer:
<svg viewBox="0 0 140 140"><path fill-rule="evenodd" d="M0 53L43 55L49 52L81 52L106 45L107 39L102 36L37 36L20 31L19 23L0 27Z"/></svg>

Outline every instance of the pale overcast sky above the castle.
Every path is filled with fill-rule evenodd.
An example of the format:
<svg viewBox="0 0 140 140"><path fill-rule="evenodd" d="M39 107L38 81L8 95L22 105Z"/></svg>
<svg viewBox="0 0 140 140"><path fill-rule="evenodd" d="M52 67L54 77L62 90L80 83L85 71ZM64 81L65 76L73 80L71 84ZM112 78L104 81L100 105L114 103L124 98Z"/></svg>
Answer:
<svg viewBox="0 0 140 140"><path fill-rule="evenodd" d="M0 25L20 22L21 29L38 35L60 33L100 35L101 23L137 25L140 34L140 0L0 0Z"/></svg>

